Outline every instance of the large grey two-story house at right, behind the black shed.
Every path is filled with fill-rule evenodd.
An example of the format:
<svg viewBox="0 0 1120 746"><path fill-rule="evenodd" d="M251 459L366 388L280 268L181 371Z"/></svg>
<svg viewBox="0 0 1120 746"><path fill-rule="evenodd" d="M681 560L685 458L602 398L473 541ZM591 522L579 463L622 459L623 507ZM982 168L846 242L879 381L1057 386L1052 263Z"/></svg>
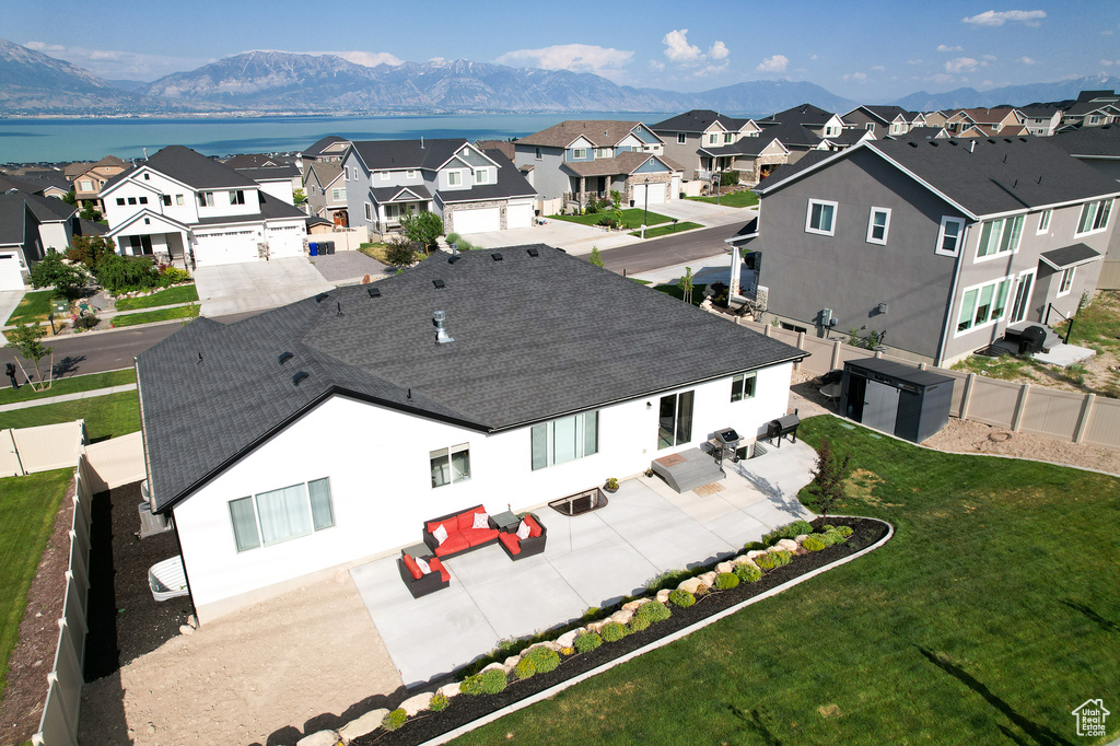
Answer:
<svg viewBox="0 0 1120 746"><path fill-rule="evenodd" d="M937 365L1008 325L1073 316L1105 254L1120 258L1120 185L1045 139L865 141L756 192L757 236L737 243L762 251L767 318L885 333L896 354Z"/></svg>

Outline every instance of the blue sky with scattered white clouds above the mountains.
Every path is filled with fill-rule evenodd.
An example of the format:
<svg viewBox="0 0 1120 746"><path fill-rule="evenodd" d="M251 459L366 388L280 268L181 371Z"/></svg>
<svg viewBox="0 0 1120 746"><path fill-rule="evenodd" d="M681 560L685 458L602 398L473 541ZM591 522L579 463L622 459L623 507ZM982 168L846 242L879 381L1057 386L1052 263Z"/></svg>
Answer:
<svg viewBox="0 0 1120 746"><path fill-rule="evenodd" d="M810 81L862 101L1120 75L1120 2L808 0L0 0L0 36L108 78L150 81L252 49L361 64L466 58L702 91Z"/></svg>

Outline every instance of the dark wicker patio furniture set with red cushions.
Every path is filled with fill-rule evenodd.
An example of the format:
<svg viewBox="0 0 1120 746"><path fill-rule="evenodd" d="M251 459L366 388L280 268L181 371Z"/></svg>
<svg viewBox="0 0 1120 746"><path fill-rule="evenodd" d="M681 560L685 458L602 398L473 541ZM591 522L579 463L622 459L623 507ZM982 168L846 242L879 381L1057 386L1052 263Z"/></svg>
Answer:
<svg viewBox="0 0 1120 746"><path fill-rule="evenodd" d="M413 598L451 584L444 560L501 544L511 560L544 551L548 530L532 513L517 517L510 511L491 515L483 505L424 522L423 543L401 550L396 565Z"/></svg>

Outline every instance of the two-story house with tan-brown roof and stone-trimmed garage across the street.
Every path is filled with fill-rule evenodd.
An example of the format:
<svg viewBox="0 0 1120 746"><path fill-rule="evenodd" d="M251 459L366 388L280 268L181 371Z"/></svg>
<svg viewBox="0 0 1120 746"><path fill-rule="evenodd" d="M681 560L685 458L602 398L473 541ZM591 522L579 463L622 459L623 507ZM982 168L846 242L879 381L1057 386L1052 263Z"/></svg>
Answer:
<svg viewBox="0 0 1120 746"><path fill-rule="evenodd" d="M618 192L624 204L676 199L683 168L642 122L569 120L514 142L514 164L532 167L530 184L544 199L580 207Z"/></svg>

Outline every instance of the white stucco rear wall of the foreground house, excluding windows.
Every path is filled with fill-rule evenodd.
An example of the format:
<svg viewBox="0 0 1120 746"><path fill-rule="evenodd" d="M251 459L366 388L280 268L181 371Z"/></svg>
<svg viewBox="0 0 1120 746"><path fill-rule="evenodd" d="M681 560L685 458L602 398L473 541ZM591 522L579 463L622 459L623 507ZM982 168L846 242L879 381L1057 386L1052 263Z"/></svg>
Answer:
<svg viewBox="0 0 1120 746"><path fill-rule="evenodd" d="M282 591L292 579L395 553L422 540L424 520L483 503L539 506L645 470L653 458L734 427L746 438L785 414L792 365L757 373L753 399L730 403L730 379L694 390L691 444L656 450L661 394L600 410L599 453L532 470L530 428L485 435L335 397L244 457L174 511L199 619ZM651 407L647 407L646 403ZM469 444L472 478L431 487L429 451ZM330 477L335 525L237 552L228 502Z"/></svg>

